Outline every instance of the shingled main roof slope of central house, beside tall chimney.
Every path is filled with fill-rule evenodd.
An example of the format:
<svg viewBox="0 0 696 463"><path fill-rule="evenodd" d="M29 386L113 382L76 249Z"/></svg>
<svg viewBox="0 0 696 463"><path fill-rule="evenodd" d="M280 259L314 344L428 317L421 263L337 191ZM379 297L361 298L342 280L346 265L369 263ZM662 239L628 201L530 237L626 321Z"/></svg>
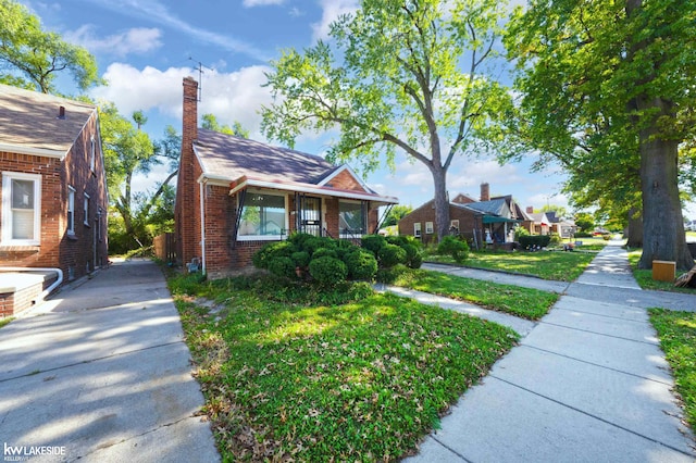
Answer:
<svg viewBox="0 0 696 463"><path fill-rule="evenodd" d="M194 148L207 175L231 182L247 176L316 185L338 168L318 155L204 128L198 129Z"/></svg>

